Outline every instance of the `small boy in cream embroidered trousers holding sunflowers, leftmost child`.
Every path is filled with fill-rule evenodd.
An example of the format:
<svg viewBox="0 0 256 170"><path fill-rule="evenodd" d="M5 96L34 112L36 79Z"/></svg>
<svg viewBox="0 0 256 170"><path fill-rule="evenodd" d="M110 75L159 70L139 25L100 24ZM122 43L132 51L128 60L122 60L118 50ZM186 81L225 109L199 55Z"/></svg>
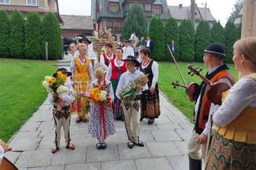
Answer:
<svg viewBox="0 0 256 170"><path fill-rule="evenodd" d="M65 68L59 68L58 71L61 71L66 76L70 76L71 73ZM54 78L57 78L57 72L53 75ZM63 128L66 148L69 150L75 150L75 145L70 143L70 134L69 134L69 125L70 125L70 103L75 100L73 96L74 92L70 81L65 82L65 86L69 88L68 94L62 94L58 96L57 92L52 92L49 94L50 103L53 104L53 116L54 116L54 125L55 125L55 140L54 146L51 149L51 153L56 153L60 148L61 142L61 128ZM61 101L61 102L59 102Z"/></svg>

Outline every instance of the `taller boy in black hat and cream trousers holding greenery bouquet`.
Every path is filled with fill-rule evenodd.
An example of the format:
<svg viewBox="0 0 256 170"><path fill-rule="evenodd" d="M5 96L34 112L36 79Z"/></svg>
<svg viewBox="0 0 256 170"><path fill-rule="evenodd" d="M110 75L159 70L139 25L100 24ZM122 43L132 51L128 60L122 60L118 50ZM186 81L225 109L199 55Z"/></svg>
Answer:
<svg viewBox="0 0 256 170"><path fill-rule="evenodd" d="M138 71L139 62L134 56L128 56L125 60L127 71L121 74L121 78L117 85L116 96L121 99L119 93L122 89L130 85L135 78L143 75L143 72ZM124 125L128 135L128 148L133 148L134 145L144 146L144 143L139 140L139 98L141 91L148 89L147 85L139 90L139 95L135 99L125 99L121 106L124 110Z"/></svg>

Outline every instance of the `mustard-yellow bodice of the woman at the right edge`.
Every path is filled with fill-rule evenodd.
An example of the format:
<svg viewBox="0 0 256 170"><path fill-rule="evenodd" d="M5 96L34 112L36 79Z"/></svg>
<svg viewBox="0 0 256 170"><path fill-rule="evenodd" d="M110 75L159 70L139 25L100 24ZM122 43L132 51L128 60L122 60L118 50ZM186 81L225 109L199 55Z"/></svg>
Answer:
<svg viewBox="0 0 256 170"><path fill-rule="evenodd" d="M247 76L256 81L256 76ZM222 93L222 101L228 96ZM239 116L225 127L215 125L214 128L225 139L232 139L240 143L256 144L256 107L246 107Z"/></svg>

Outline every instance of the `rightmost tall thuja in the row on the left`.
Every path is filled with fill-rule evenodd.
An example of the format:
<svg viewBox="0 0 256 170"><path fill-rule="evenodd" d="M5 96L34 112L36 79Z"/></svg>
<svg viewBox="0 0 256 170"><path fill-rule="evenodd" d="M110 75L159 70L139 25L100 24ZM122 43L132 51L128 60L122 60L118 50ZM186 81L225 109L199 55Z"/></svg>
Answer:
<svg viewBox="0 0 256 170"><path fill-rule="evenodd" d="M61 59L61 27L54 13L46 13L42 21L43 42L48 42L49 60Z"/></svg>

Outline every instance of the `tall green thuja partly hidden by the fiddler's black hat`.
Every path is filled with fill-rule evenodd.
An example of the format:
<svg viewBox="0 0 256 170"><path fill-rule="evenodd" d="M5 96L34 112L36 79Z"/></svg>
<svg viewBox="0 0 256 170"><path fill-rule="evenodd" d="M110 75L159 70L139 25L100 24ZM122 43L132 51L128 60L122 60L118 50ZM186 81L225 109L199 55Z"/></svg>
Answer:
<svg viewBox="0 0 256 170"><path fill-rule="evenodd" d="M195 61L202 62L203 50L210 44L210 26L207 21L200 21L195 32Z"/></svg>

